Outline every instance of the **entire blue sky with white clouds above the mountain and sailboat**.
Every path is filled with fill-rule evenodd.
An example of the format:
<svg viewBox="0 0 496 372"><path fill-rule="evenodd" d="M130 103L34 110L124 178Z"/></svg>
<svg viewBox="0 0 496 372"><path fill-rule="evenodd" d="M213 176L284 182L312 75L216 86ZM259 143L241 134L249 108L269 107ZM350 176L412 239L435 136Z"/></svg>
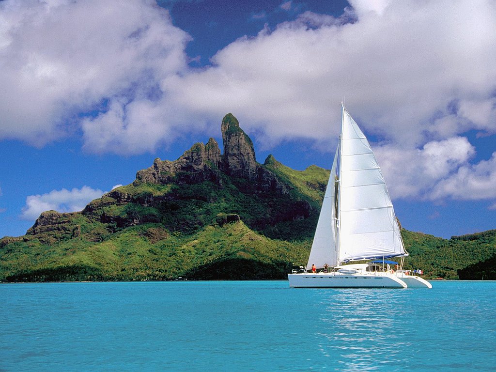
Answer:
<svg viewBox="0 0 496 372"><path fill-rule="evenodd" d="M0 1L0 237L81 210L232 112L330 168L340 102L403 227L496 228L493 1Z"/></svg>

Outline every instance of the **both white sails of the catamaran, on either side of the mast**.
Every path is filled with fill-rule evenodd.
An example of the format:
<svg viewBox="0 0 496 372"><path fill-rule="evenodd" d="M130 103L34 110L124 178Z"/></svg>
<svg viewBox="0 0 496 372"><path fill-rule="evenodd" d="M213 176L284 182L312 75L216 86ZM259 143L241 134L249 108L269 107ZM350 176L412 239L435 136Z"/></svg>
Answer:
<svg viewBox="0 0 496 372"><path fill-rule="evenodd" d="M369 141L343 105L341 137L307 269L406 256L393 205Z"/></svg>

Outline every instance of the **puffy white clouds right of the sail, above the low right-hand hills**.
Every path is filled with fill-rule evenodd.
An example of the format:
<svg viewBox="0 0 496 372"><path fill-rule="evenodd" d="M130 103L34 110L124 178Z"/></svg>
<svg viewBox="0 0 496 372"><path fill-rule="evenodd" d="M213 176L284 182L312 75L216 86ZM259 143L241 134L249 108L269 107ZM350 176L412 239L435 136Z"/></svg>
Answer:
<svg viewBox="0 0 496 372"><path fill-rule="evenodd" d="M415 150L384 145L374 152L393 198L496 199L496 152L489 160L471 164L475 148L465 137L432 141Z"/></svg>

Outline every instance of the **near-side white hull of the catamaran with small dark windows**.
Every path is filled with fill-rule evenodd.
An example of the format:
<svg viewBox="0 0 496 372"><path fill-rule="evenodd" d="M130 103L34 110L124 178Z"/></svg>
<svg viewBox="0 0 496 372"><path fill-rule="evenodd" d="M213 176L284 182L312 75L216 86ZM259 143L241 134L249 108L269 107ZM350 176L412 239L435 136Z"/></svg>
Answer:
<svg viewBox="0 0 496 372"><path fill-rule="evenodd" d="M294 288L407 288L393 275L288 274L288 280Z"/></svg>

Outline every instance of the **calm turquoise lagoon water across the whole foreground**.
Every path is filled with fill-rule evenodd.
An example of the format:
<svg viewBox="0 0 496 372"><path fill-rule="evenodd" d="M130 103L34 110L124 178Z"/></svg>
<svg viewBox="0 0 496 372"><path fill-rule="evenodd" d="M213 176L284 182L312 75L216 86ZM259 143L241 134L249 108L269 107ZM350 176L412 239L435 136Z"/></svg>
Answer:
<svg viewBox="0 0 496 372"><path fill-rule="evenodd" d="M494 371L496 282L0 285L0 371Z"/></svg>

